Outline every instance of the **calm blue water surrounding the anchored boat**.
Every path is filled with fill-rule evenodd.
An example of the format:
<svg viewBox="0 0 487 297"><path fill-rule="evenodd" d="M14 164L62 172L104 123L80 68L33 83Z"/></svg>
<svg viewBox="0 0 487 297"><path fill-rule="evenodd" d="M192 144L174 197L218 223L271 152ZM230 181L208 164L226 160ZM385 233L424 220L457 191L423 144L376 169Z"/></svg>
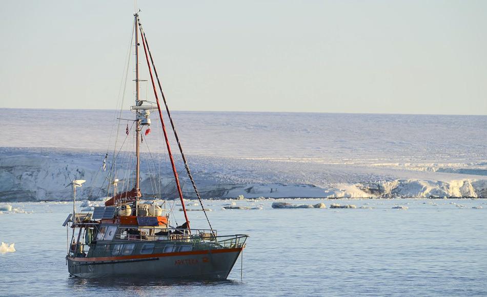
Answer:
<svg viewBox="0 0 487 297"><path fill-rule="evenodd" d="M272 201L243 200L237 205L263 209L222 210L228 201L208 201L219 235L250 235L243 278L238 260L224 282L70 278L61 224L72 206L12 203L34 213L0 214L0 241L15 242L17 250L0 254L0 295L487 294L487 200L308 202L373 208L272 209ZM392 209L395 205L409 209ZM201 213L189 215L193 226L206 226ZM182 220L180 213L175 216Z"/></svg>

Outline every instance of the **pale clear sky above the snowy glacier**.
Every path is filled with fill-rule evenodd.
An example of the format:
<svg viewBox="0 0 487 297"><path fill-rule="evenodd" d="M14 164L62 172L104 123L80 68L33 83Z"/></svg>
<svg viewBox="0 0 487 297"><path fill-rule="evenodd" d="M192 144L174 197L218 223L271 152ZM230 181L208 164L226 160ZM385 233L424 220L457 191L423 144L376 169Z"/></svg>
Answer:
<svg viewBox="0 0 487 297"><path fill-rule="evenodd" d="M138 7L172 110L487 115L487 1ZM2 10L0 108L117 108L133 1L4 1ZM143 98L150 91L141 83Z"/></svg>

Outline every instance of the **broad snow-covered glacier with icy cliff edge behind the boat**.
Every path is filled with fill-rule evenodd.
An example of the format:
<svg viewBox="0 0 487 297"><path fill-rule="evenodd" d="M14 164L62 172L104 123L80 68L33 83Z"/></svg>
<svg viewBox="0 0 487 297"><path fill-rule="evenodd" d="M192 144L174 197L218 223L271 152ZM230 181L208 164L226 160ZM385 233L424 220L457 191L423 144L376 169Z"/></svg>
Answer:
<svg viewBox="0 0 487 297"><path fill-rule="evenodd" d="M0 124L8 124L11 112L0 109ZM107 150L106 130L90 129L86 119L96 117L100 126L111 127L112 111L15 113L17 130L26 133L5 130L0 138L0 201L70 200L72 189L66 185L75 176L87 180L78 189L80 200L107 195L106 188L100 189L105 176L96 175ZM173 116L204 198L487 197L485 116L232 112ZM53 118L63 122L55 130ZM125 133L125 126L119 129ZM152 154L161 156L157 160L164 162L159 153L165 152L165 144L157 129L154 125L147 142ZM73 130L76 135L70 133ZM145 146L142 149L141 188L151 195L154 174L147 170L149 152ZM121 155L122 161L129 156ZM176 162L184 180L184 167ZM168 197L174 192L172 173L164 163L160 169L161 188ZM184 195L195 198L188 184Z"/></svg>

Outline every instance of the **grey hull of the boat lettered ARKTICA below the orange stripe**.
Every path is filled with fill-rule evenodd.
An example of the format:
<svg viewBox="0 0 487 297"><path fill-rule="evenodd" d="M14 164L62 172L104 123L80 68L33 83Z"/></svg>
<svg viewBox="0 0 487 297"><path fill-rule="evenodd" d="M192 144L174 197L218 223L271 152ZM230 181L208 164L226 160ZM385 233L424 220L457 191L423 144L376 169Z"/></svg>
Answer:
<svg viewBox="0 0 487 297"><path fill-rule="evenodd" d="M67 257L80 278L145 277L226 280L243 248L171 252L124 257Z"/></svg>

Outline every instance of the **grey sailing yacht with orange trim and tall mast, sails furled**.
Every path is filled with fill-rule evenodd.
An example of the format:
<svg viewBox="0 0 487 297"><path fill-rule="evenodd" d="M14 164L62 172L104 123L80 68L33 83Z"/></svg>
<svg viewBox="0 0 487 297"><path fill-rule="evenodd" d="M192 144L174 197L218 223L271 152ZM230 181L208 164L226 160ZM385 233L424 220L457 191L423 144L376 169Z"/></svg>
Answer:
<svg viewBox="0 0 487 297"><path fill-rule="evenodd" d="M138 12L134 14L133 37L135 39L135 104L130 109L135 114L133 120L135 126L134 184L133 187L130 186L131 189L127 188L117 193L118 179L114 179L109 183L114 188L113 196L105 202L105 206L93 207L87 212L77 213L76 188L82 186L85 181L74 180L71 183L74 195L73 212L68 215L63 224L68 230L69 228L72 230L71 240L68 238L67 243L68 271L70 275L80 278L137 276L225 280L245 248L248 235L220 236L212 228L171 118ZM156 104L140 99L139 50L141 49L144 51ZM190 226L159 96L163 99L182 162L209 228L197 229ZM165 202L142 203L145 197L141 194L139 184L140 143L143 141L142 130L150 127L149 116L152 111L157 111L159 115L177 195L185 217L184 224L180 226L171 225ZM103 166L105 167L105 161Z"/></svg>

